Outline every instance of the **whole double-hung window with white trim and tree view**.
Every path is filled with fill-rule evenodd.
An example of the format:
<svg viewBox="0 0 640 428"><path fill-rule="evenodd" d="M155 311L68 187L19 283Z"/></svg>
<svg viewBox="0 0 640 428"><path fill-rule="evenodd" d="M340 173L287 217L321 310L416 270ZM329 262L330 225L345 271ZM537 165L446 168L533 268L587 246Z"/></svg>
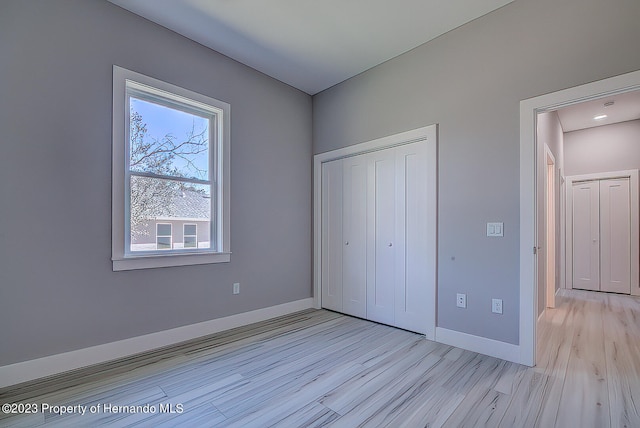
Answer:
<svg viewBox="0 0 640 428"><path fill-rule="evenodd" d="M114 270L229 261L229 113L114 66Z"/></svg>

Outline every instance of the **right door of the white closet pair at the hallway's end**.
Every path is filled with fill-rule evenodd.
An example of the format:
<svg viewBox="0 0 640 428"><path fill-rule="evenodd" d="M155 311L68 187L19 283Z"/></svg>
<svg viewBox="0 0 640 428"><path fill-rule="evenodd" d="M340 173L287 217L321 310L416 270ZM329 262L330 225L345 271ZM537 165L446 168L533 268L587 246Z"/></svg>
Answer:
<svg viewBox="0 0 640 428"><path fill-rule="evenodd" d="M631 293L629 179L600 181L600 289Z"/></svg>

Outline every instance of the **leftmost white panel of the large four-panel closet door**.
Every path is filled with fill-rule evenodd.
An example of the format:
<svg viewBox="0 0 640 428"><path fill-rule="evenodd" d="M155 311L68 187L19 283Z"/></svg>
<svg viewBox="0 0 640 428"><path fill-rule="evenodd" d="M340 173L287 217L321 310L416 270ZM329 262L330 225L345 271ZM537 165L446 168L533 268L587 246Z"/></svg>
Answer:
<svg viewBox="0 0 640 428"><path fill-rule="evenodd" d="M322 307L342 312L342 160L322 164Z"/></svg>

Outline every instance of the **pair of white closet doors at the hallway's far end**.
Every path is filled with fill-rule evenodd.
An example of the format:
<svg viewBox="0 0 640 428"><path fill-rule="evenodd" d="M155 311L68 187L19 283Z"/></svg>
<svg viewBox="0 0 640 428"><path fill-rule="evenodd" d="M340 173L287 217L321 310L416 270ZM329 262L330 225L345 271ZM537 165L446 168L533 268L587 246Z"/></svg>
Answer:
<svg viewBox="0 0 640 428"><path fill-rule="evenodd" d="M631 292L629 179L573 183L573 288Z"/></svg>

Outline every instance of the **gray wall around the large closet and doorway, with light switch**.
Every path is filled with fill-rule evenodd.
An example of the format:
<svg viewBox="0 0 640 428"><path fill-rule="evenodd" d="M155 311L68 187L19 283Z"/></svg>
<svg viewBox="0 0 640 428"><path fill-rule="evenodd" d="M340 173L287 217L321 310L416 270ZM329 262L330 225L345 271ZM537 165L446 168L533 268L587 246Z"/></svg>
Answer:
<svg viewBox="0 0 640 428"><path fill-rule="evenodd" d="M516 0L314 97L314 153L440 125L440 327L518 343L519 102L640 69L639 20L638 0Z"/></svg>

